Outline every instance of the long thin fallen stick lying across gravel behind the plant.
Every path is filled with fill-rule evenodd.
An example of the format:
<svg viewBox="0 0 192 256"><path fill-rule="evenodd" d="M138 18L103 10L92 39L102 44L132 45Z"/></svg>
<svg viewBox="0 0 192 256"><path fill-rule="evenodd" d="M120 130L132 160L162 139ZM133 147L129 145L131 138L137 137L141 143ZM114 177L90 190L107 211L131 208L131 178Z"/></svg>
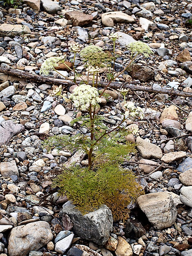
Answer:
<svg viewBox="0 0 192 256"><path fill-rule="evenodd" d="M34 74L30 74L28 72L22 72L19 70L13 70L13 69L7 69L7 68L0 68L0 72L3 74L7 74L10 76L16 76L19 78L23 78L25 80L28 80L30 82L36 82L36 83L46 83L46 84L52 84L52 85L63 85L66 88L69 85L74 85L75 83L72 83L68 80L64 79L56 79L56 78L51 78L51 77L45 77L45 76L38 76ZM105 87L107 83L103 83L100 85L101 87ZM122 87L122 84L119 83L111 83L109 88L113 89L120 89ZM164 94L169 94L169 95L177 95L177 96L182 96L182 97L192 97L192 93L190 92L180 92L180 91L175 91L175 90L166 90L166 89L153 89L152 87L147 87L147 86L141 86L141 85L133 85L133 84L128 84L124 83L124 88L125 89L130 89L133 91L141 91L141 92L152 92L152 93L164 93Z"/></svg>

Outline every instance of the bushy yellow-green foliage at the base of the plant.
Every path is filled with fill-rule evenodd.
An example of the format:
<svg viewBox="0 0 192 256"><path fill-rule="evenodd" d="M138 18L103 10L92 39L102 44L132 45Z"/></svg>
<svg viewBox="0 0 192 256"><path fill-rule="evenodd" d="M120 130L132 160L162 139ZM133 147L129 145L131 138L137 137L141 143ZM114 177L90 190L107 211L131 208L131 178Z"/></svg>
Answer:
<svg viewBox="0 0 192 256"><path fill-rule="evenodd" d="M131 171L118 164L104 162L89 168L65 169L54 181L53 187L60 188L82 213L106 204L114 220L128 218L127 205L140 195L141 188Z"/></svg>

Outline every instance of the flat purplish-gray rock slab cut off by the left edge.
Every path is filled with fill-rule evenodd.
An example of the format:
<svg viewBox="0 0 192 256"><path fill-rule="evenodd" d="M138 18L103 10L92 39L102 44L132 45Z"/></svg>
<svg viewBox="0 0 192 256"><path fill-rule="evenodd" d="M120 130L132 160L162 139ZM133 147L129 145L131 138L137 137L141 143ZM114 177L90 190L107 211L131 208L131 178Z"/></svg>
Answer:
<svg viewBox="0 0 192 256"><path fill-rule="evenodd" d="M9 143L13 136L24 131L22 124L14 124L11 120L4 121L0 124L0 146Z"/></svg>

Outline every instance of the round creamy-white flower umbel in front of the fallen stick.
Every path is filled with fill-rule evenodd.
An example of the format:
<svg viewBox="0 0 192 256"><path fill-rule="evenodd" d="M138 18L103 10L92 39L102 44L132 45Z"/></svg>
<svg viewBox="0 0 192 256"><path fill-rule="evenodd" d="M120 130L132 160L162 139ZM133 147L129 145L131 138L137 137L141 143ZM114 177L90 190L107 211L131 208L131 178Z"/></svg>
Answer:
<svg viewBox="0 0 192 256"><path fill-rule="evenodd" d="M74 102L76 108L83 111L87 110L90 104L96 106L100 102L98 90L88 84L77 86L69 98Z"/></svg>

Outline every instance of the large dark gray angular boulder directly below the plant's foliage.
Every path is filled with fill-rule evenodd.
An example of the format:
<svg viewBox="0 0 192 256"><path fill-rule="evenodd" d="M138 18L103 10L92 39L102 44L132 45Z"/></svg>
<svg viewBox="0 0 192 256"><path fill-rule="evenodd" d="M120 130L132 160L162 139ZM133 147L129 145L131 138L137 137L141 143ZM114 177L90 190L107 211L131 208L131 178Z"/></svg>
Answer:
<svg viewBox="0 0 192 256"><path fill-rule="evenodd" d="M113 228L111 211L106 205L83 215L74 205L64 205L60 217L67 214L73 222L72 231L81 238L103 245Z"/></svg>

